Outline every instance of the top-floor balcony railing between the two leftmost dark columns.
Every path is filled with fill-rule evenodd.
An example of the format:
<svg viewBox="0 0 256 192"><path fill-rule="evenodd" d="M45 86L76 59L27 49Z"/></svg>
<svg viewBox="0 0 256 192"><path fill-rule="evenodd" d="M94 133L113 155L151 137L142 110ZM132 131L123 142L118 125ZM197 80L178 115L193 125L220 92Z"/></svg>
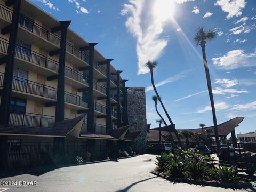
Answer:
<svg viewBox="0 0 256 192"><path fill-rule="evenodd" d="M19 16L19 26L31 31L37 36L42 37L43 39L53 43L58 47L60 46L60 37L58 35L53 34L51 31L45 29L42 26L39 26L33 20L30 20L21 14Z"/></svg>

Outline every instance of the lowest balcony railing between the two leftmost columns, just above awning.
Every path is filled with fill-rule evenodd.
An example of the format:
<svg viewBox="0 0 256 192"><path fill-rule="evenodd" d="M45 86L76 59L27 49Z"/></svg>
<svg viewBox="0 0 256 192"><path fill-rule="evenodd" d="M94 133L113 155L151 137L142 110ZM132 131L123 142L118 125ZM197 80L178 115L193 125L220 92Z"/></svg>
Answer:
<svg viewBox="0 0 256 192"><path fill-rule="evenodd" d="M10 113L10 126L26 127L47 127L52 128L55 123L55 117L39 114L15 114Z"/></svg>

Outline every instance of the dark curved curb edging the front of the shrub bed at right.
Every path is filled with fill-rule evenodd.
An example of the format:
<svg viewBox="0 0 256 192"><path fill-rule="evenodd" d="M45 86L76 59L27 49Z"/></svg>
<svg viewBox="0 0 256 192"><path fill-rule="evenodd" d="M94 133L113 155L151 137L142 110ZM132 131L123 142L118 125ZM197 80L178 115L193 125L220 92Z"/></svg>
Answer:
<svg viewBox="0 0 256 192"><path fill-rule="evenodd" d="M234 189L252 187L252 183L250 182L242 182L237 184L237 183L221 183L221 182L213 182L213 181L198 181L193 179L173 178L170 176L163 175L162 173L154 170L151 171L151 173L172 182L182 182L182 183L201 185L201 186L212 186L212 187L234 188Z"/></svg>

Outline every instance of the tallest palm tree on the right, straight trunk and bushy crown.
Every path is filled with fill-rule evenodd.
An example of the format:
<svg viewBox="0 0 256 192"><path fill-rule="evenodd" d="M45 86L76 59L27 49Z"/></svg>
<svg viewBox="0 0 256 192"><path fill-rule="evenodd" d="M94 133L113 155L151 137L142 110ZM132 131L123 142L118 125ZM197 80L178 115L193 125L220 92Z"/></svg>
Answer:
<svg viewBox="0 0 256 192"><path fill-rule="evenodd" d="M203 27L198 27L197 32L194 37L194 41L196 42L196 46L200 45L202 47L204 69L205 69L208 92L209 92L209 97L210 97L211 107L212 107L212 117L213 117L213 125L214 125L214 132L215 132L216 145L217 145L217 154L219 154L219 152L220 152L219 132L218 132L217 118L216 118L214 100L213 100L213 94L212 94L211 78L210 78L208 63L206 60L206 53L205 53L206 41L211 41L216 36L217 36L217 34L214 30L210 29L210 30L206 31L206 30L204 30Z"/></svg>

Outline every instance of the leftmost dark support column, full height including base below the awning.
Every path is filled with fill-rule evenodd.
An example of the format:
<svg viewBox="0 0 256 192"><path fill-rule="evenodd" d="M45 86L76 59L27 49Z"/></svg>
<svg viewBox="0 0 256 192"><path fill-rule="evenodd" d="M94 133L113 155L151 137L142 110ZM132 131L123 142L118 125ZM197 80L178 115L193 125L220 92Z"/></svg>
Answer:
<svg viewBox="0 0 256 192"><path fill-rule="evenodd" d="M13 5L12 24L5 29L5 34L9 34L9 44L7 49L7 56L1 58L1 63L5 63L3 91L0 103L0 124L3 126L9 126L10 118L10 102L12 94L12 79L13 79L13 67L15 57L15 45L17 42L17 34L19 27L19 14L21 0L6 1L7 6ZM3 31L1 30L1 33ZM8 135L0 135L0 169L7 169L7 140Z"/></svg>

